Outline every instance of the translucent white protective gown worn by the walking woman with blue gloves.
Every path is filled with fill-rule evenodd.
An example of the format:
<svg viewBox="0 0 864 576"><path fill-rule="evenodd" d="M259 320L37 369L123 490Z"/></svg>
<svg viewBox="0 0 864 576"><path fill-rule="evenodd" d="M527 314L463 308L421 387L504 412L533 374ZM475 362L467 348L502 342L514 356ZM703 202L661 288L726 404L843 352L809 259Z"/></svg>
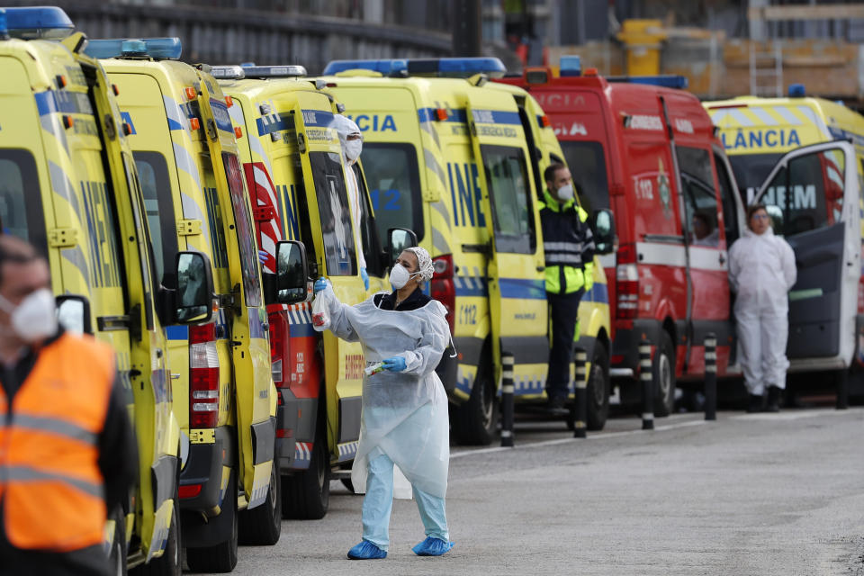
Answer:
<svg viewBox="0 0 864 576"><path fill-rule="evenodd" d="M316 298L322 296L329 303L329 329L338 338L359 340L366 365L392 356L405 358L407 365L402 372L364 376L360 443L351 471L355 491L365 492L367 456L377 447L396 464L396 498L410 499L410 484L444 498L450 424L435 368L450 341L446 309L433 300L414 311L385 311L375 306L374 296L348 306L329 286Z"/></svg>

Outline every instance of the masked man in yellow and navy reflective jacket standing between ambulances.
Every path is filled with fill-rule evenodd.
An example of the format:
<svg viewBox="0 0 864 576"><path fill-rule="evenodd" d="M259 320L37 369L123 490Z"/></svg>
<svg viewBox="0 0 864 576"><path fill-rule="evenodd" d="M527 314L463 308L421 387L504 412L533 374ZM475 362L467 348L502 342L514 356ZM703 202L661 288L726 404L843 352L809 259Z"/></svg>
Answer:
<svg viewBox="0 0 864 576"><path fill-rule="evenodd" d="M579 327L579 303L593 284L594 238L588 212L576 203L570 170L552 164L544 173L547 189L540 202L545 252L546 300L552 319L552 347L546 374L549 411L565 416L573 340Z"/></svg>

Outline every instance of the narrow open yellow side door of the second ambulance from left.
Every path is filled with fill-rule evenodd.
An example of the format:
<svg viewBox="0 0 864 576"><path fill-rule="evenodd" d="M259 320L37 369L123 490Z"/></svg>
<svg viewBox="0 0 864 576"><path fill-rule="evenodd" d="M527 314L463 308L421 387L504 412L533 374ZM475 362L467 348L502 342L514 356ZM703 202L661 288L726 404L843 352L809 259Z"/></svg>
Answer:
<svg viewBox="0 0 864 576"><path fill-rule="evenodd" d="M211 95L211 90L208 78L202 76L202 120L220 197L232 284L230 339L237 398L238 464L248 508L252 509L266 500L270 485L275 449L271 399L275 388L270 372L255 226L243 168L228 106L215 94Z"/></svg>

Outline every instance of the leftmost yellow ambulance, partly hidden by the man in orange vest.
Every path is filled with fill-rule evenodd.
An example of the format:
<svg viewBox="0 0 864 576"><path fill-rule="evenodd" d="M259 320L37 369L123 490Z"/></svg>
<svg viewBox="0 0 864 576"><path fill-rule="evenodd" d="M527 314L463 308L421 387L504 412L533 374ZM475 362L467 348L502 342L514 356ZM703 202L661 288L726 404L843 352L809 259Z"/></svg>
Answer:
<svg viewBox="0 0 864 576"><path fill-rule="evenodd" d="M99 62L80 52L86 39L72 33L60 9L9 8L4 16L0 102L9 113L0 121L0 227L48 257L67 329L117 352L140 474L126 509L111 511L112 563L179 573L180 430L166 318L157 314L162 294L115 88Z"/></svg>

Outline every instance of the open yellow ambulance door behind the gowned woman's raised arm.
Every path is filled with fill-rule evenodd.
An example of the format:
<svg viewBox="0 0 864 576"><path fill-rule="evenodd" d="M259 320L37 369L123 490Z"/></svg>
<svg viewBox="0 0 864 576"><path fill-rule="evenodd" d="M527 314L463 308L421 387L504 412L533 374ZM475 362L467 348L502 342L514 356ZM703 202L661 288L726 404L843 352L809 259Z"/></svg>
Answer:
<svg viewBox="0 0 864 576"><path fill-rule="evenodd" d="M309 221L316 234L319 275L326 275L341 302L365 300L365 287L357 267L354 229L348 202L345 169L336 130L329 128L331 112L321 108L320 94L298 93L293 111L294 133L300 148L307 193L314 188L315 202L307 202ZM325 101L326 102L326 101ZM304 106L304 103L306 104ZM310 187L311 184L311 187ZM360 437L360 393L363 388L363 350L323 334L324 372L327 382L329 449L339 462L356 454Z"/></svg>

